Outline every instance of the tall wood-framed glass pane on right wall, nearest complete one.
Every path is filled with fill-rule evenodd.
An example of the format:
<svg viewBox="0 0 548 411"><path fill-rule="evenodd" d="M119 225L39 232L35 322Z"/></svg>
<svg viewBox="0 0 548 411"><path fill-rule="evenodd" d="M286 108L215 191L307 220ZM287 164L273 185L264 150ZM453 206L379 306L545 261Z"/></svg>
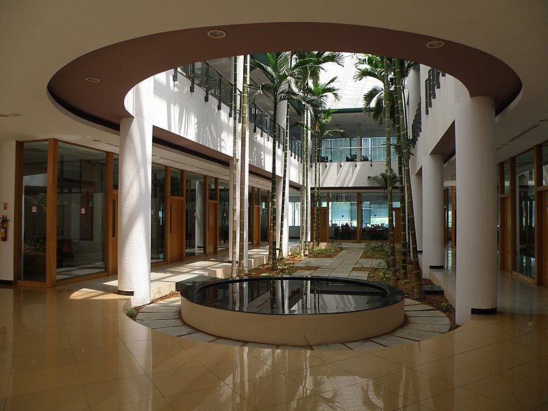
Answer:
<svg viewBox="0 0 548 411"><path fill-rule="evenodd" d="M535 277L534 151L516 157L516 271Z"/></svg>

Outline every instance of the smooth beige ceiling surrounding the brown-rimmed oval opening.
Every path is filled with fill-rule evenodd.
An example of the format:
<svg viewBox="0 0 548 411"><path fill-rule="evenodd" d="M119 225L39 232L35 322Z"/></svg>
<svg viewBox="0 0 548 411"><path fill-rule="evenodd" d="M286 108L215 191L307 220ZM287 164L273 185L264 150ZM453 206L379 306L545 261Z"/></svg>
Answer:
<svg viewBox="0 0 548 411"><path fill-rule="evenodd" d="M540 122L548 119L548 2L544 0L349 0L336 6L327 0L313 4L279 0L260 7L249 7L247 0L210 0L192 7L175 0L98 0L86 5L69 0L3 0L0 115L21 116L0 116L0 141L55 137L113 149L118 145L115 134L75 119L52 103L47 84L62 66L95 49L149 34L266 21L386 27L485 51L506 62L523 82L519 97L497 117L498 160L548 138L548 122ZM363 50L353 51L367 52L366 38L363 44ZM184 49L181 45L173 53ZM340 50L345 51L345 38L340 38Z"/></svg>

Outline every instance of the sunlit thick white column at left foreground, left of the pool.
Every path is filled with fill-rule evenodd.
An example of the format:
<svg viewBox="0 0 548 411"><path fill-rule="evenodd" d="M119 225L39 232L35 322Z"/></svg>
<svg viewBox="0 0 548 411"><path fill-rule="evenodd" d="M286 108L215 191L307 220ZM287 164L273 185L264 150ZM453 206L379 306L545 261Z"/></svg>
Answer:
<svg viewBox="0 0 548 411"><path fill-rule="evenodd" d="M118 290L140 306L150 302L153 78L126 99L134 117L120 122Z"/></svg>

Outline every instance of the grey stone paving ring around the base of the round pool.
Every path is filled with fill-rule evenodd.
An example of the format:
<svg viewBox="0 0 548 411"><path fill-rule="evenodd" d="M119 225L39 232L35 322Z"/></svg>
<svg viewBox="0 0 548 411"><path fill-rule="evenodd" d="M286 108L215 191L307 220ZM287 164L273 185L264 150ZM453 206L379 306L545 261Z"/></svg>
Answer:
<svg viewBox="0 0 548 411"><path fill-rule="evenodd" d="M179 316L181 309L181 298L174 297L153 303L142 308L137 315L136 321L156 331L188 338L189 340L205 341L214 344L236 345L240 347L264 347L278 349L314 349L314 350L339 350L339 349L369 349L394 347L406 345L416 341L427 340L440 336L449 331L451 321L443 312L434 310L412 299L406 299L406 319L401 327L389 334L369 338L366 340L354 341L352 343L334 343L315 346L293 347L288 345L269 345L249 343L245 341L229 340L212 336L186 325Z"/></svg>

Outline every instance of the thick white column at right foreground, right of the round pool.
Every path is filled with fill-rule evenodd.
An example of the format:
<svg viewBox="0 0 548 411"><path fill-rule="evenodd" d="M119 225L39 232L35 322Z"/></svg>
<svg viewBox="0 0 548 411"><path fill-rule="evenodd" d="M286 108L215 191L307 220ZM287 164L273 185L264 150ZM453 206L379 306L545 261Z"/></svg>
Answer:
<svg viewBox="0 0 548 411"><path fill-rule="evenodd" d="M456 88L456 323L497 309L495 102Z"/></svg>

